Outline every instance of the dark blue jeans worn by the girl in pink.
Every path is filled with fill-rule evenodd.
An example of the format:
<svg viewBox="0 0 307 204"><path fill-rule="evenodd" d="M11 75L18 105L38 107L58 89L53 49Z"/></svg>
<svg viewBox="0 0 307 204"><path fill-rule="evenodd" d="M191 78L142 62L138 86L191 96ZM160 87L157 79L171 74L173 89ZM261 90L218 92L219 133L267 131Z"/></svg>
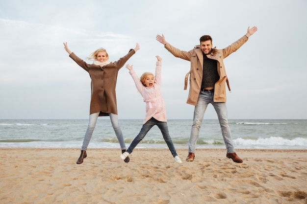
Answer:
<svg viewBox="0 0 307 204"><path fill-rule="evenodd" d="M132 153L133 149L136 147L136 145L146 136L146 134L148 133L148 131L150 131L150 129L152 129L152 127L156 125L158 126L158 128L160 129L162 136L168 146L168 148L170 149L173 157L177 156L177 152L176 149L174 147L172 138L168 132L168 127L167 127L167 123L166 122L161 122L156 120L155 118L151 118L149 119L145 124L143 124L143 127L140 131L140 133L133 139L133 141L131 142L127 152L129 154Z"/></svg>

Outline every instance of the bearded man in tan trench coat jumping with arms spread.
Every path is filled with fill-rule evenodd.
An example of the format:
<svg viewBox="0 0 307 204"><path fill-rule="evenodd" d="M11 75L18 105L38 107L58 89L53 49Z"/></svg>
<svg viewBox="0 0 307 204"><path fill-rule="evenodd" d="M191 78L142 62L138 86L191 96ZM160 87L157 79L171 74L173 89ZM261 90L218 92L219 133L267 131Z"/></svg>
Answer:
<svg viewBox="0 0 307 204"><path fill-rule="evenodd" d="M204 35L200 38L200 45L190 51L181 51L166 42L164 35L157 35L156 40L164 45L175 57L191 62L191 69L185 76L187 87L188 75L190 74L190 90L187 103L194 105L193 125L189 139L189 154L186 161L193 161L195 158L195 145L199 131L204 119L205 110L211 103L217 113L222 130L223 139L226 145L226 157L234 162L241 163L233 147L230 127L227 118L226 107L226 83L230 91L228 78L223 59L240 48L248 41L248 38L257 31L257 27L248 27L247 33L224 49L213 48L212 38Z"/></svg>

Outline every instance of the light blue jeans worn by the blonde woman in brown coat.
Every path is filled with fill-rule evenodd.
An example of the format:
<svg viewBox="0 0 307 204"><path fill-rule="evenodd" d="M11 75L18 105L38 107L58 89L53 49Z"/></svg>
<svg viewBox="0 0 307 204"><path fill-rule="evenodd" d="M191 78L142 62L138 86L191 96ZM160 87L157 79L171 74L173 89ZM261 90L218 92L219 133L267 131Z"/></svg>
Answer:
<svg viewBox="0 0 307 204"><path fill-rule="evenodd" d="M89 118L89 121L88 121L88 126L87 126L86 133L85 133L85 136L84 136L84 139L83 139L83 144L82 144L81 150L87 150L87 146L90 143L91 137L93 135L93 132L94 132L94 129L95 129L95 126L96 126L98 115L99 115L99 112L90 114L90 118ZM123 136L121 128L119 127L117 114L109 113L109 115L110 115L112 127L115 131L115 135L117 136L117 139L119 141L121 149L126 150L124 136Z"/></svg>

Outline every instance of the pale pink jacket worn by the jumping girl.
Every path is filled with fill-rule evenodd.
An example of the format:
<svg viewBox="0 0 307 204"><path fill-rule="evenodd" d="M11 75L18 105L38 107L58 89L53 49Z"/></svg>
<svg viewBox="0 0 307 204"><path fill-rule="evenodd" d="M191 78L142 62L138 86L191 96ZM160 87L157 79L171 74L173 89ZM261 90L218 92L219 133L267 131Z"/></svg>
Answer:
<svg viewBox="0 0 307 204"><path fill-rule="evenodd" d="M146 117L143 124L152 117L158 121L166 122L165 104L161 92L161 62L156 62L153 88L145 87L134 69L129 73L134 80L136 89L143 96L144 102L146 102Z"/></svg>

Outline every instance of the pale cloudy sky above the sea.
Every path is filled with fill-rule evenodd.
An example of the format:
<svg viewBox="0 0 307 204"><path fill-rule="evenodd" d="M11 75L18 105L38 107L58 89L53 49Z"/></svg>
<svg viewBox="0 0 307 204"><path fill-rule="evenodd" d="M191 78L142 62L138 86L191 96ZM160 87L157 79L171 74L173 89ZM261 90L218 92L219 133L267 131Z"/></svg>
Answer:
<svg viewBox="0 0 307 204"><path fill-rule="evenodd" d="M162 58L162 94L168 119L192 119L180 50L210 35L225 48L258 31L224 59L231 92L229 119L307 119L306 0L0 0L0 119L87 119L90 77L63 48L84 59L105 48L110 61L140 50L127 62L140 76ZM188 87L189 88L189 87ZM145 103L128 69L120 69L119 119L143 119ZM205 119L216 119L209 105Z"/></svg>

